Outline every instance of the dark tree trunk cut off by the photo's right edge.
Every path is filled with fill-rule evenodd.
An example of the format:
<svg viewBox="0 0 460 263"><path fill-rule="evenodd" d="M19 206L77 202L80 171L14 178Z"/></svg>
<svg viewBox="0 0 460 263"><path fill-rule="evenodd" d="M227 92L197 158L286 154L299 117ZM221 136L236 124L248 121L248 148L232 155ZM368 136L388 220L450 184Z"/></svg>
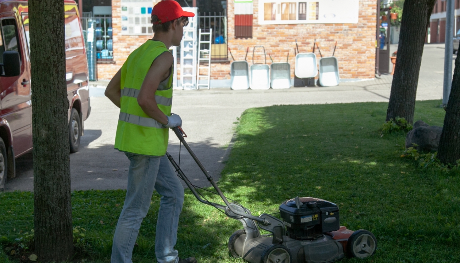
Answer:
<svg viewBox="0 0 460 263"><path fill-rule="evenodd" d="M437 158L444 164L456 164L460 159L460 55L455 59L454 78L444 116L443 133Z"/></svg>

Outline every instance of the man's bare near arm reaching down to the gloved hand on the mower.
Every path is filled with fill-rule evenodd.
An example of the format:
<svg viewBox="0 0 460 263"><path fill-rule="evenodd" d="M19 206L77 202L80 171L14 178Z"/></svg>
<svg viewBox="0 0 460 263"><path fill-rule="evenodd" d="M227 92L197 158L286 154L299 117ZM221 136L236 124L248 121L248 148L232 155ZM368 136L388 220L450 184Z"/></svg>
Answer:
<svg viewBox="0 0 460 263"><path fill-rule="evenodd" d="M155 101L155 92L158 89L160 82L170 72L172 65L173 54L164 52L158 56L152 63L149 72L147 72L138 95L138 104L142 110L149 115L150 118L153 118L165 125L168 123L168 118L158 108ZM171 74L173 73L171 72Z"/></svg>

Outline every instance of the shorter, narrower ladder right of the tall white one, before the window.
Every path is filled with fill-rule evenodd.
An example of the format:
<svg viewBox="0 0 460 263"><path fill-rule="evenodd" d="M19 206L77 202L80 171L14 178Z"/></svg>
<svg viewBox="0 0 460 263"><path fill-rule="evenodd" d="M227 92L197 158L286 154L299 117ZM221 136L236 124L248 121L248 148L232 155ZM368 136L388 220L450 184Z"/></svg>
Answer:
<svg viewBox="0 0 460 263"><path fill-rule="evenodd" d="M196 73L196 89L199 90L200 86L207 86L209 90L211 88L211 36L212 36L213 29L209 28L209 32L201 32L198 35L198 72ZM205 39L209 37L209 40L202 40L201 36L204 36ZM206 45L206 48L201 47L201 44ZM201 65L201 62L207 62L207 66ZM201 69L206 71L207 74L202 74ZM201 82L200 82L201 80ZM206 80L205 83L204 80Z"/></svg>

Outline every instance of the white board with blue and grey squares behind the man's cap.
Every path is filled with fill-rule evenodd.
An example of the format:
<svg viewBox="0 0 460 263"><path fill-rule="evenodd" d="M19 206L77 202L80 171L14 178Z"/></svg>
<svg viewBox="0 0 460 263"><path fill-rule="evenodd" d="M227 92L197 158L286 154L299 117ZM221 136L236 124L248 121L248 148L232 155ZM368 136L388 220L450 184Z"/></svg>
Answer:
<svg viewBox="0 0 460 263"><path fill-rule="evenodd" d="M121 0L121 34L152 35L152 0Z"/></svg>

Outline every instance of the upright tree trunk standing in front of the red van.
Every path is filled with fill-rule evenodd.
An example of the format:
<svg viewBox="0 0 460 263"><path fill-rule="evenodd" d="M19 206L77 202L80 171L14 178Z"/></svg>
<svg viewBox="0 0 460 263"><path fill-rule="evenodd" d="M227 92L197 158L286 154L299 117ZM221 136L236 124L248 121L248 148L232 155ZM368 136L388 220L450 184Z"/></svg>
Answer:
<svg viewBox="0 0 460 263"><path fill-rule="evenodd" d="M62 262L73 256L64 1L29 0L29 30L35 253Z"/></svg>

